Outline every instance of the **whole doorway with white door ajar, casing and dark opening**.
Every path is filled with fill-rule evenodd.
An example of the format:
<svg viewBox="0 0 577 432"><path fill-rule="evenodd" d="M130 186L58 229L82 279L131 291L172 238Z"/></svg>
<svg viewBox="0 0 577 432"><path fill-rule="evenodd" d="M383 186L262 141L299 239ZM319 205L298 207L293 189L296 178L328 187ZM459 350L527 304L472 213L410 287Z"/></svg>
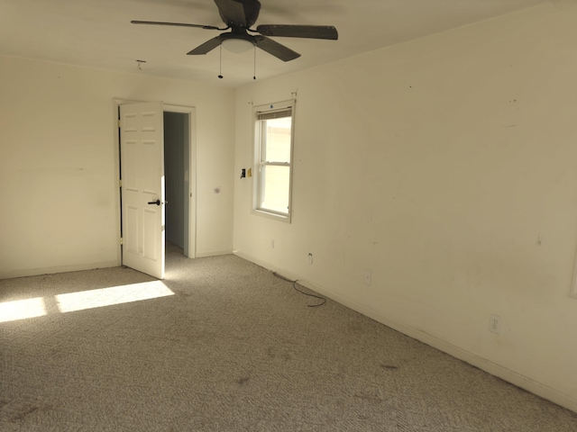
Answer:
<svg viewBox="0 0 577 432"><path fill-rule="evenodd" d="M119 148L117 162L121 178L119 265L131 266L161 279L164 277L167 232L172 251L177 247L181 257L196 257L195 109L120 99L114 99L114 106L115 115L119 118L119 133L115 135L115 141ZM155 112L160 115L155 116ZM150 127L140 124L145 119L148 121L158 117L158 124ZM158 130L160 135L154 135L154 130ZM144 131L147 133L146 139L138 135ZM134 133L136 135L128 136ZM151 152L155 142L160 142L158 155ZM157 180L159 184L154 185ZM130 204L124 197L125 194L134 193L143 195L138 205ZM161 214L161 220L152 218L153 214ZM169 219L165 219L165 216ZM158 236L156 233L159 233ZM125 258L129 255L138 263L128 263L129 260ZM153 270L147 270L140 268L142 262L156 264Z"/></svg>

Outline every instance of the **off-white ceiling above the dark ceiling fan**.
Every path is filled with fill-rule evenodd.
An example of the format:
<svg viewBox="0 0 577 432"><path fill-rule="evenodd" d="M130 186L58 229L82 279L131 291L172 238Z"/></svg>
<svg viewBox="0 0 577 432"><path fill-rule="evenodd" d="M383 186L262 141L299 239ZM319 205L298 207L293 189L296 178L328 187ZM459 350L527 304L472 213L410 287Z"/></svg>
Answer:
<svg viewBox="0 0 577 432"><path fill-rule="evenodd" d="M257 79L479 22L545 0L261 0L256 24L334 25L339 40L274 38L302 57L256 52ZM134 25L131 20L224 26L213 0L0 0L0 55L146 76L239 86L252 83L254 53L214 49L188 56L218 31ZM137 59L145 60L142 70ZM223 79L218 79L221 73Z"/></svg>

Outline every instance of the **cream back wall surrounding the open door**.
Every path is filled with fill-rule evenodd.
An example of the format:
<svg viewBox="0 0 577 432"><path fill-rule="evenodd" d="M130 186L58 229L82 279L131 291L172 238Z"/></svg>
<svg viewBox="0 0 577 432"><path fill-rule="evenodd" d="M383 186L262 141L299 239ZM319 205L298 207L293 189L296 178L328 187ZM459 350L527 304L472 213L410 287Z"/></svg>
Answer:
<svg viewBox="0 0 577 432"><path fill-rule="evenodd" d="M120 265L114 98L196 107L197 255L232 251L231 90L0 58L0 95L0 278Z"/></svg>

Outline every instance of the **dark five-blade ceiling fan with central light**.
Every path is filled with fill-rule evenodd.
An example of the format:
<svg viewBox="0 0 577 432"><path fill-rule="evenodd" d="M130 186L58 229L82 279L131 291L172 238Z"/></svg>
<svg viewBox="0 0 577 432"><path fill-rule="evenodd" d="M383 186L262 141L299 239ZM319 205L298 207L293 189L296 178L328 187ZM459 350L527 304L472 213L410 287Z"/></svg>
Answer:
<svg viewBox="0 0 577 432"><path fill-rule="evenodd" d="M220 28L214 25L187 23L160 23L156 21L131 21L131 23L197 27L205 30L218 31L230 30L219 34L211 40L206 40L205 43L189 51L189 56L206 54L220 46L226 40L245 40L276 58L289 61L300 57L300 54L275 40L271 40L268 36L326 40L338 39L338 32L332 25L261 24L256 27L256 30L252 30L252 24L256 23L259 12L261 11L261 3L258 0L215 0L215 4L218 7L218 12L224 24L226 24L226 27Z"/></svg>

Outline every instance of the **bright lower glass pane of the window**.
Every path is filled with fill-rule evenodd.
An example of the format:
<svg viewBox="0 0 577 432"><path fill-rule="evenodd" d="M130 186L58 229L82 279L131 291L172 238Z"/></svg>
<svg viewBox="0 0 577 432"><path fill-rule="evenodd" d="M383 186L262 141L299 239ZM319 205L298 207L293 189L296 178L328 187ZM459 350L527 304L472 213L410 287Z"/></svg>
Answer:
<svg viewBox="0 0 577 432"><path fill-rule="evenodd" d="M262 210L289 213L289 166L261 167L261 206Z"/></svg>

